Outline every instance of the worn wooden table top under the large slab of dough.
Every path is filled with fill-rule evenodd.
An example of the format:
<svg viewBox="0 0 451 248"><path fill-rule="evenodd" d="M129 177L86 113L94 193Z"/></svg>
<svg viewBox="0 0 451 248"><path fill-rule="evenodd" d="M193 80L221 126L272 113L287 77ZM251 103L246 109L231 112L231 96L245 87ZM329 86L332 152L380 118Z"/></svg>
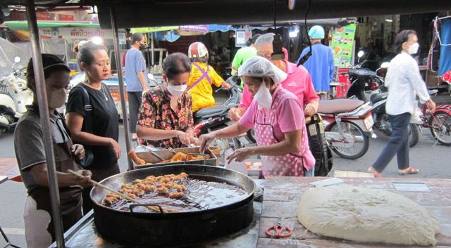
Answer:
<svg viewBox="0 0 451 248"><path fill-rule="evenodd" d="M325 178L304 177L275 177L264 181L264 201L261 211L258 248L382 248L402 247L388 244L358 243L331 237L319 236L306 230L297 221L297 206L302 194L312 181ZM441 234L436 235L436 247L451 247L451 180L428 178L342 178L348 185L364 186L397 192L425 207L432 216L440 221ZM393 182L421 182L426 183L429 192L407 192L395 189ZM292 235L285 239L271 239L266 237L266 228L273 226L278 218L283 218L284 226L292 228ZM405 246L409 247L409 246ZM410 246L411 247L411 246Z"/></svg>

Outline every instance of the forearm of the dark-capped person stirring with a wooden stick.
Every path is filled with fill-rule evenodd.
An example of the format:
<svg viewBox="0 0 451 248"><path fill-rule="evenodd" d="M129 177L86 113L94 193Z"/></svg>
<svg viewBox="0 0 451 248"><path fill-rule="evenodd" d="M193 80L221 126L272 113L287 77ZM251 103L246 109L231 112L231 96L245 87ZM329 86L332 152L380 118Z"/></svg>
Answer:
<svg viewBox="0 0 451 248"><path fill-rule="evenodd" d="M47 163L36 164L31 167L30 171L32 172L33 177L35 178L36 183L42 187L49 187L49 176L47 174ZM78 173L82 174L83 177L80 178L73 174L56 172L56 179L58 180L58 187L69 187L73 185L80 185L82 187L92 186L91 183L91 171L80 170Z"/></svg>

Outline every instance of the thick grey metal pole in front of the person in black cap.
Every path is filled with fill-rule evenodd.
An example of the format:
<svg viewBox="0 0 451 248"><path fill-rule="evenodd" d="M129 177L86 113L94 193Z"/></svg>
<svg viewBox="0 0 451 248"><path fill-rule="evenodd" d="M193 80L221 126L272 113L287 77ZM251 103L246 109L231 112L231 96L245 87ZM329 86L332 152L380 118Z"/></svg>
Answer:
<svg viewBox="0 0 451 248"><path fill-rule="evenodd" d="M30 31L30 43L32 48L33 70L37 90L37 103L39 105L39 116L44 136L44 150L47 160L47 173L49 174L49 190L51 200L51 215L53 216L55 238L57 247L64 247L63 220L59 205L58 180L56 178L54 148L51 142L51 128L49 122L49 107L47 105L47 93L45 87L44 70L42 68L41 47L39 46L39 30L37 29L35 3L27 0L27 20ZM24 137L25 138L25 137Z"/></svg>

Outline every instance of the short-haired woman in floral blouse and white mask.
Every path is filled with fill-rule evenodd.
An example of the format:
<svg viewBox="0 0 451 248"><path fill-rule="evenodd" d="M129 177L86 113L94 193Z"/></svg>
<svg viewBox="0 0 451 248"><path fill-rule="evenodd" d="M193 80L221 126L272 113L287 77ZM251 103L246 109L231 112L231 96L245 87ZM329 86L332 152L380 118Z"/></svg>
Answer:
<svg viewBox="0 0 451 248"><path fill-rule="evenodd" d="M142 96L137 136L142 145L181 148L194 143L192 99L187 88L190 59L173 53L163 60L163 84Z"/></svg>

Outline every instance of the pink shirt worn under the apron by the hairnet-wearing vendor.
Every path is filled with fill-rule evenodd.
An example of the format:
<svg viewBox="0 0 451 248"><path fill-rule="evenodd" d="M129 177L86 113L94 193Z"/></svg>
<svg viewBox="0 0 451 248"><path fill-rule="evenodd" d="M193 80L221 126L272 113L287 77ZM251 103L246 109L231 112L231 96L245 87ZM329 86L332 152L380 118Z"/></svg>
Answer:
<svg viewBox="0 0 451 248"><path fill-rule="evenodd" d="M309 139L307 136L307 129L305 127L304 110L298 98L290 91L278 86L273 93L273 99L278 97L278 107L275 110L276 117L274 119L264 119L266 109L258 110L258 103L252 100L245 115L240 119L240 124L246 126L248 129L254 128L257 121L261 124L271 124L273 126L274 135L278 141L284 141L284 133L302 129L302 155L304 156L304 167L311 169L315 164L315 158L309 149ZM257 115L258 113L258 115ZM257 119L256 119L257 118Z"/></svg>

